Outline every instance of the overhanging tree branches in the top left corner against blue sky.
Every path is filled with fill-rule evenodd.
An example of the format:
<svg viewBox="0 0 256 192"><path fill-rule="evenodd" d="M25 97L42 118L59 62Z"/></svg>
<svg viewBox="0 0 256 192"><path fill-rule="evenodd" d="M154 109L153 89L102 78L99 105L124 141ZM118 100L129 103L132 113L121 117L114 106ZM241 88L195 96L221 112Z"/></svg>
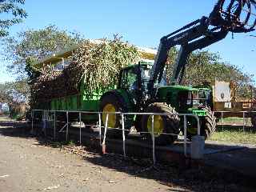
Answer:
<svg viewBox="0 0 256 192"><path fill-rule="evenodd" d="M0 0L0 13L2 15L12 14L12 18L0 20L0 37L8 34L8 29L14 24L22 22L22 18L26 18L26 11L19 7L23 5L25 0Z"/></svg>

